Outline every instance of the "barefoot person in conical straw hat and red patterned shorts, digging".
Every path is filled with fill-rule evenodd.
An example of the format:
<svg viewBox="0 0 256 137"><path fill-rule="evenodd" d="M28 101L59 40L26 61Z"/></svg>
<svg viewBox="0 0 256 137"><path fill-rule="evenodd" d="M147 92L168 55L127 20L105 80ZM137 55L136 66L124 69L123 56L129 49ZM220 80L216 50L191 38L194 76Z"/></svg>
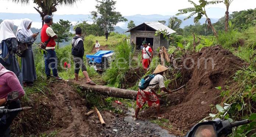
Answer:
<svg viewBox="0 0 256 137"><path fill-rule="evenodd" d="M143 105L147 102L149 107L156 108L157 115L161 118L160 115L160 101L159 97L161 95L157 94L155 89L159 87L161 91L165 91L167 93L171 93L170 90L167 90L164 86L164 77L163 74L167 71L168 68L162 65L158 65L153 72L153 79L150 80L149 86L146 89L139 89L136 99L136 110L134 120L138 119L139 110L143 107Z"/></svg>

